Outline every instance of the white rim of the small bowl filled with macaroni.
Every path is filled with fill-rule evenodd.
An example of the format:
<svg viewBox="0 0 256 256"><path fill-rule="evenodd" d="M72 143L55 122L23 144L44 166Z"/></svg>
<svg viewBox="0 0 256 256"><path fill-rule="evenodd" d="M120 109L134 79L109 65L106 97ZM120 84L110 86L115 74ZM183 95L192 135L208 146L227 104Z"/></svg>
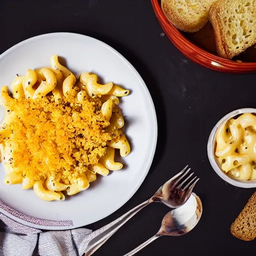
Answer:
<svg viewBox="0 0 256 256"><path fill-rule="evenodd" d="M236 110L233 110L226 115L224 115L212 128L208 143L207 143L207 155L209 162L211 164L211 167L214 169L214 171L226 182L228 182L231 185L237 186L237 187L243 187L243 188L251 188L256 187L256 180L239 180L235 178L231 178L227 176L220 168L218 162L216 161L215 153L214 153L214 146L215 146L215 137L216 137L216 131L218 127L223 123L229 120L230 118L243 113L256 113L256 108L238 108Z"/></svg>

